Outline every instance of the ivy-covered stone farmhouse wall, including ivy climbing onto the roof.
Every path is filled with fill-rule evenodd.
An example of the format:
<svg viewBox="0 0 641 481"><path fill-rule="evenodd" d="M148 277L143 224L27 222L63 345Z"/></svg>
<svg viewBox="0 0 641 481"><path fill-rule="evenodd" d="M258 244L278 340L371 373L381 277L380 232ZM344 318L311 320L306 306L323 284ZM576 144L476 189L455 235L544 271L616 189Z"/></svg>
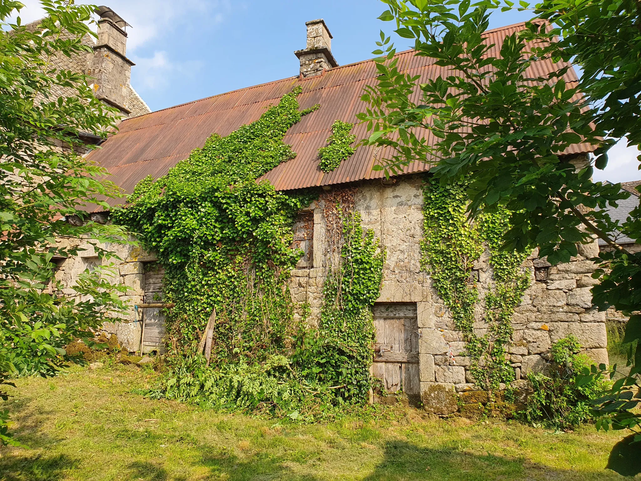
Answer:
<svg viewBox="0 0 641 481"><path fill-rule="evenodd" d="M256 183L296 155L283 136L318 108L299 111L298 92L259 121L213 135L160 180L141 181L131 205L113 213L156 252L174 305L166 311L172 371L154 395L292 419L363 405L376 302L415 306L420 392L438 414L458 409L454 392L501 388L543 369L551 342L568 333L603 362L604 323L587 300L588 246L556 267L535 253L502 253L505 213L466 224L465 186L436 187L425 174L306 192ZM319 154L349 162L351 126L335 127L334 148ZM301 210L313 218L312 262L296 268L292 225ZM122 282L139 303L142 264L152 257L128 249ZM213 308L207 363L197 347ZM135 317L127 320L133 338Z"/></svg>

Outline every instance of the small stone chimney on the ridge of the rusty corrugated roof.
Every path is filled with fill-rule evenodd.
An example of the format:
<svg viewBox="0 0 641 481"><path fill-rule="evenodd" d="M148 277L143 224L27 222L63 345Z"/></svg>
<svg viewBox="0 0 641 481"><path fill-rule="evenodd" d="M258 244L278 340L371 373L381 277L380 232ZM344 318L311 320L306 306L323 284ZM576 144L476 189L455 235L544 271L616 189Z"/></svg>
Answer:
<svg viewBox="0 0 641 481"><path fill-rule="evenodd" d="M322 75L338 63L331 55L331 33L323 19L305 22L307 26L307 48L294 54L301 61L301 79Z"/></svg>

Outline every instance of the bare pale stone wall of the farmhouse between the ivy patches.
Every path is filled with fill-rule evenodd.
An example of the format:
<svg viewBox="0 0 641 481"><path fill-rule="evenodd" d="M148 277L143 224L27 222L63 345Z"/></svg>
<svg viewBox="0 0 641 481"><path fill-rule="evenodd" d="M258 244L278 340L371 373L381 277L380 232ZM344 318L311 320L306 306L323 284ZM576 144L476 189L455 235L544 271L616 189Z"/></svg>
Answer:
<svg viewBox="0 0 641 481"><path fill-rule="evenodd" d="M474 390L474 380L467 367L462 333L437 292L431 287L429 274L420 267L420 240L423 237L422 178L403 176L395 181L363 181L356 187L354 209L362 215L363 228L372 229L387 251L380 304L415 305L419 335L420 393L426 409L448 414L458 409L456 402L447 401L451 392ZM332 190L326 191L331 194ZM322 306L322 285L328 268L328 242L324 219L324 196L301 213L296 239L306 249L299 266L292 271L290 290L296 305L296 318L306 312L306 321L318 325ZM300 232L299 232L300 231ZM131 305L162 302L162 267L154 255L137 246L115 246L122 258L119 282L133 288L128 300ZM551 343L572 333L578 337L585 353L596 362L608 362L606 351L605 313L591 308L590 288L595 281L590 274L594 264L587 260L597 255L597 244L579 246L579 256L559 266L550 266L535 251L524 262L531 286L513 316L514 335L510 345L510 361L515 379L521 380L530 371L543 371L549 359ZM57 260L56 278L66 285L98 262L92 248L76 258ZM492 282L492 268L485 252L474 266L479 294ZM71 291L70 291L71 292ZM478 312L475 329L482 335L482 312ZM140 322L133 308L118 321L104 323L106 332L115 333L129 351L140 348ZM445 394L444 394L445 393ZM445 398L444 398L445 396Z"/></svg>

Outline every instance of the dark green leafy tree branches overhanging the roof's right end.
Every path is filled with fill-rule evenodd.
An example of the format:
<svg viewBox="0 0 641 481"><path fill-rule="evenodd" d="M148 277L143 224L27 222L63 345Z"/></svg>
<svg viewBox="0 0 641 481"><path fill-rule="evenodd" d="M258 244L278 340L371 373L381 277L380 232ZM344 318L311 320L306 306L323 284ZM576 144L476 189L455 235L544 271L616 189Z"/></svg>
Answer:
<svg viewBox="0 0 641 481"><path fill-rule="evenodd" d="M641 310L641 254L617 243L622 235L641 237L641 210L624 223L612 221L606 209L629 194L619 184L592 181L617 138L626 135L637 146L641 141L638 3L544 0L532 7L535 18L523 31L494 46L483 35L490 14L526 10L528 3L382 1L388 10L379 18L394 21L398 35L415 41L415 55L433 59L446 73L421 79L402 71L394 45L381 32L374 51L378 83L367 87L369 108L359 115L370 131L363 142L393 152L375 168L395 174L414 160L427 160L442 185L469 179L470 216L513 212L503 237L507 251L538 247L556 264L576 255L579 242L603 239L612 249L595 259L595 277L601 279L592 291L595 306L628 315ZM578 85L566 81L570 59L583 69ZM552 68L540 74L537 62ZM594 154L571 155L585 151L581 146L591 146ZM631 316L624 341L631 342L634 366L599 400L599 427L641 423L629 411L638 403L639 338L641 316ZM606 366L593 369L591 376L597 376Z"/></svg>

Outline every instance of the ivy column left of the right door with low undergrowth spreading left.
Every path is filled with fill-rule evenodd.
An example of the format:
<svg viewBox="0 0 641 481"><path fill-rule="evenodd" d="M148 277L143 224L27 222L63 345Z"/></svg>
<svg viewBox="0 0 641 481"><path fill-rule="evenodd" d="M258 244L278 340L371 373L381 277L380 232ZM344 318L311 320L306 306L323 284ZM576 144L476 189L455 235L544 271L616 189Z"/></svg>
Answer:
<svg viewBox="0 0 641 481"><path fill-rule="evenodd" d="M198 403L213 409L248 411L312 422L337 416L369 398L374 325L385 254L371 231L363 235L358 213L344 219L340 268L326 280L318 330L303 326L291 355L273 353L256 362L203 355L174 360L151 397Z"/></svg>

